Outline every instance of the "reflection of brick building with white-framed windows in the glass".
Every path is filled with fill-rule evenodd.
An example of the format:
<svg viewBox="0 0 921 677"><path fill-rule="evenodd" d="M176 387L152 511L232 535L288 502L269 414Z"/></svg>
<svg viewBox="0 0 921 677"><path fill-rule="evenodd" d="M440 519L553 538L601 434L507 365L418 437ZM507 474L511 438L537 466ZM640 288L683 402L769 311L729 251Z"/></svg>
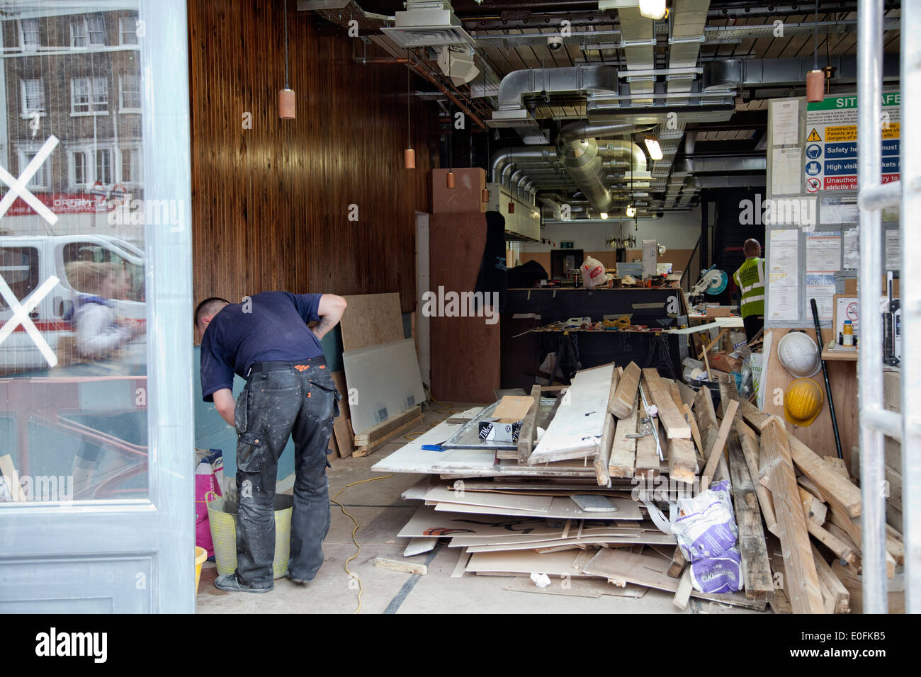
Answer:
<svg viewBox="0 0 921 677"><path fill-rule="evenodd" d="M61 210L68 214L61 227L69 230L76 227L73 205L87 193L117 195L121 186L141 196L143 30L136 10L35 16L39 13L10 12L2 20L0 165L19 176L55 135L60 144L29 181L29 190L49 206L55 200L69 204ZM17 205L28 212L20 200ZM95 225L97 219L89 216L95 210L90 205L86 211Z"/></svg>

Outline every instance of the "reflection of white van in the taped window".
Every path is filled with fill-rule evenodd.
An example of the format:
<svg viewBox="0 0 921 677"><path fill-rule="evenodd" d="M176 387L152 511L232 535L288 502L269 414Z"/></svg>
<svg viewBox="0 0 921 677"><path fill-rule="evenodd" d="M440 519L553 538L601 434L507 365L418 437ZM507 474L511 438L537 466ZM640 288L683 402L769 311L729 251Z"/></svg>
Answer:
<svg viewBox="0 0 921 677"><path fill-rule="evenodd" d="M131 290L127 298L112 299L112 305L126 321L142 326L146 321L145 254L131 242L111 235L0 236L0 274L20 303L52 275L60 280L29 313L29 318L52 350L58 348L61 339L73 336L73 325L67 318L73 316L77 294L88 291L75 289L67 279L67 264L78 261L124 265ZM6 324L12 315L6 299L0 296L0 326ZM125 346L124 360L135 365L144 364L146 350L143 336L141 334ZM23 327L17 326L0 344L0 374L43 368L48 368L48 362Z"/></svg>

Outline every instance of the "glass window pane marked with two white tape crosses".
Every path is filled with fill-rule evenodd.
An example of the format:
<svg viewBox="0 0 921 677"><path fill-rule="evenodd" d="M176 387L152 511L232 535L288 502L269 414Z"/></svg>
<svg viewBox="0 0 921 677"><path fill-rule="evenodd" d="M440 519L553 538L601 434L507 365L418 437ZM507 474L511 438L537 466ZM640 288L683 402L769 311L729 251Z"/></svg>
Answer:
<svg viewBox="0 0 921 677"><path fill-rule="evenodd" d="M9 5L4 44L21 58L0 81L0 461L20 491L0 508L144 498L145 219L113 217L145 200L142 45L125 39L137 7Z"/></svg>

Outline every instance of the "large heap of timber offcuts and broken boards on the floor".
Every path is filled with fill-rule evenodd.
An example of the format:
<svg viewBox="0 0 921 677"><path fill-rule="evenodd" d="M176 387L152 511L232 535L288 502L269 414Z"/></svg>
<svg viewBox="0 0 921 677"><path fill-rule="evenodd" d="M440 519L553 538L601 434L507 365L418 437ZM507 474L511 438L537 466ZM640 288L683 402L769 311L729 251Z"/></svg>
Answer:
<svg viewBox="0 0 921 677"><path fill-rule="evenodd" d="M651 588L674 593L682 609L689 597L775 612L859 609L859 490L740 400L732 381L721 383L719 414L711 391L633 363L585 369L567 390L535 386L531 397L516 449L440 446L477 407L374 466L426 475L403 494L422 502L398 534L410 539L407 556L443 539L458 551L454 576L565 578L544 589L552 594L639 597ZM712 595L693 589L675 537L649 509L668 513L667 501L722 479L732 487L744 587ZM891 543L894 566L897 534ZM527 578L507 589L538 590Z"/></svg>

